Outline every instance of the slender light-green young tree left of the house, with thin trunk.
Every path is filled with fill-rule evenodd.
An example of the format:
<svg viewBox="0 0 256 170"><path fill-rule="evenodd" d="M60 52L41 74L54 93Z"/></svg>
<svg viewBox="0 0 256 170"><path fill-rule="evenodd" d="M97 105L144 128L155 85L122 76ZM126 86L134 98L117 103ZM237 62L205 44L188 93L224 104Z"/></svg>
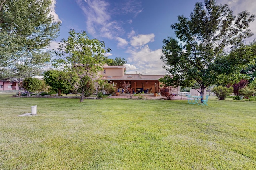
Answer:
<svg viewBox="0 0 256 170"><path fill-rule="evenodd" d="M68 72L74 72L79 77L75 87L82 92L80 102L84 100L86 87L89 78L95 78L98 71L103 69L106 63L104 56L109 48L105 48L103 41L90 39L85 31L76 33L74 30L69 31L68 39L62 39L58 51L55 51L59 57L56 59L55 66L61 66ZM89 86L88 86L89 87Z"/></svg>

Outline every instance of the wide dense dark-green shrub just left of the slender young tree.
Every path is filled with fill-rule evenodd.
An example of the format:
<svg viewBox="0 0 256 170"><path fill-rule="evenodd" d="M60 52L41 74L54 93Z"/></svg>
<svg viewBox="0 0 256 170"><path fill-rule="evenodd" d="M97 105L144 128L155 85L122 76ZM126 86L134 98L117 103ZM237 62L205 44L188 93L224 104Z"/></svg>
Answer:
<svg viewBox="0 0 256 170"><path fill-rule="evenodd" d="M44 81L55 92L58 92L58 95L61 95L61 92L69 92L74 88L74 84L78 81L78 76L73 72L64 72L59 70L48 70L44 72Z"/></svg>

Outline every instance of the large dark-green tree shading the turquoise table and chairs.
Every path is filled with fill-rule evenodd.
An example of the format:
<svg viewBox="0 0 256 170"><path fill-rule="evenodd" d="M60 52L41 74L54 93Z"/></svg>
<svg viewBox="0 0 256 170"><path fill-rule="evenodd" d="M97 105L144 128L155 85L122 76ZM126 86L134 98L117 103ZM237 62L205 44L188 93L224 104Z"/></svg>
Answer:
<svg viewBox="0 0 256 170"><path fill-rule="evenodd" d="M225 5L215 0L197 2L190 18L178 16L178 23L171 25L177 38L163 40L161 59L172 77L166 76L168 85L205 88L217 82L219 76L239 72L250 61L244 39L252 36L249 23L255 16L240 12L234 16Z"/></svg>

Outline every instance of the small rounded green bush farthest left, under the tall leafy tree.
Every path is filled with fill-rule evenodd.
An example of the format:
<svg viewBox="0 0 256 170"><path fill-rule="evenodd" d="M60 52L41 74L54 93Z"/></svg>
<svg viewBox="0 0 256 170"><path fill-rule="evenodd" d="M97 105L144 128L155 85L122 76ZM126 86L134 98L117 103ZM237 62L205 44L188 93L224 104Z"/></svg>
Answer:
<svg viewBox="0 0 256 170"><path fill-rule="evenodd" d="M42 88L43 83L42 80L39 80L38 78L29 77L23 80L22 86L28 92L34 93Z"/></svg>

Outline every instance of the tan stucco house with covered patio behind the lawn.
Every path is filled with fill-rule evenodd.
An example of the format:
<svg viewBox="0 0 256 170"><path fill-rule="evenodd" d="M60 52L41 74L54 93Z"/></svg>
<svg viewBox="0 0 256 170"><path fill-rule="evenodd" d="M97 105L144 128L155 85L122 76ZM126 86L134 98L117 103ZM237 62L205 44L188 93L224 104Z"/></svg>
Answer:
<svg viewBox="0 0 256 170"><path fill-rule="evenodd" d="M125 74L126 66L103 66L103 70L98 72L97 79L108 80L116 88L122 89L124 81L128 81L131 84L134 93L144 91L144 93L158 93L160 91L159 78L165 75L142 75L137 74ZM178 94L178 89L173 89L173 93ZM121 91L120 91L121 92Z"/></svg>

